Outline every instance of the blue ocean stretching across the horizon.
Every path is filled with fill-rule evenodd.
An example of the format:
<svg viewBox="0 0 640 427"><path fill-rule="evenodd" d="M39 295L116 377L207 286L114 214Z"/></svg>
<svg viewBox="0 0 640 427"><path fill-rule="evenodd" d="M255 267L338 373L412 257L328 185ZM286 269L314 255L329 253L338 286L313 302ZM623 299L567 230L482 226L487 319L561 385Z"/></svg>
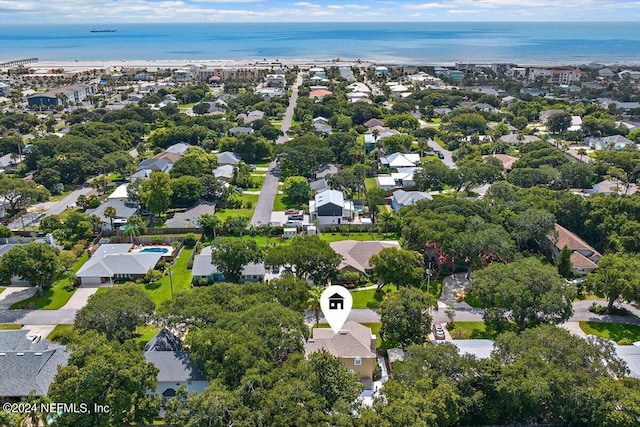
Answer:
<svg viewBox="0 0 640 427"><path fill-rule="evenodd" d="M361 58L380 63L640 64L637 22L0 26L0 62Z"/></svg>

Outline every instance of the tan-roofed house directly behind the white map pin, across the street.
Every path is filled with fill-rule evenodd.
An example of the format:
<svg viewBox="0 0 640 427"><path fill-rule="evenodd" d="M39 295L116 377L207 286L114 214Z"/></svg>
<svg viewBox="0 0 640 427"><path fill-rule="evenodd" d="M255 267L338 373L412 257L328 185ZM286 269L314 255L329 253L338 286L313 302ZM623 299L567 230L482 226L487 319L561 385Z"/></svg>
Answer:
<svg viewBox="0 0 640 427"><path fill-rule="evenodd" d="M341 240L329 243L331 249L342 257L338 270L341 272L354 271L361 274L371 274L373 269L369 260L385 248L400 249L397 241L358 241Z"/></svg>

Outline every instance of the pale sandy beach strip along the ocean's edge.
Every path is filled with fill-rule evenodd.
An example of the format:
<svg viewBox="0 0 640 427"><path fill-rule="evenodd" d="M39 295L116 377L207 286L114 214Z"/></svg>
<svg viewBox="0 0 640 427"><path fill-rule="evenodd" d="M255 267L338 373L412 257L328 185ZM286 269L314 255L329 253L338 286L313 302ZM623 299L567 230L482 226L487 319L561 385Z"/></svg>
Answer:
<svg viewBox="0 0 640 427"><path fill-rule="evenodd" d="M337 60L338 61L337 61ZM14 59L17 61L19 59ZM1 62L1 61L0 61ZM607 63L599 62L597 60L585 61L580 64L576 63L562 63L562 62L532 62L532 63L520 63L517 61L469 61L460 60L455 62L429 62L429 61L399 61L392 60L390 58L380 60L373 59L310 59L310 58L287 58L287 59L122 59L122 60L44 60L38 62L32 62L24 64L25 68L33 69L55 69L63 68L65 71L83 71L92 69L118 69L118 68L146 68L147 70L158 70L162 68L186 68L186 67L207 67L207 68L275 68L277 66L282 67L368 67L374 65L386 65L386 66L407 66L407 67L420 67L420 66L434 66L434 67L453 67L456 62L465 64L476 65L490 65L495 63L515 63L519 67L579 67L581 65L588 64L601 64L605 67L637 67L640 66L640 61L629 63ZM3 67L13 68L13 67ZM0 68L2 69L2 68Z"/></svg>

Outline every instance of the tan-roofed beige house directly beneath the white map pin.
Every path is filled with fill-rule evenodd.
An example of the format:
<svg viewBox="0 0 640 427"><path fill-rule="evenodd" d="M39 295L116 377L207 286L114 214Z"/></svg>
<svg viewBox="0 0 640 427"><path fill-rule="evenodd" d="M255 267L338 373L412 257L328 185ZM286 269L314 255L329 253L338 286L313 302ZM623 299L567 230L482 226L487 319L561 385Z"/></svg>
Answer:
<svg viewBox="0 0 640 427"><path fill-rule="evenodd" d="M377 365L376 337L371 329L352 321L346 322L337 334L331 329L314 328L304 343L304 353L325 350L340 359L345 368L355 372L365 388L373 387L373 372Z"/></svg>

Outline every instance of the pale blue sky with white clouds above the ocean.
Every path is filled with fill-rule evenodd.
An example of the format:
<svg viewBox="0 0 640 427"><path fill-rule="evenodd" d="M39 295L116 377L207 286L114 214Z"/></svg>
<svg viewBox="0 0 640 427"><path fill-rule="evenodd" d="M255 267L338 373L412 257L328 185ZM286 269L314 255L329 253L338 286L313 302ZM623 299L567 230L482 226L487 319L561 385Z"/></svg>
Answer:
<svg viewBox="0 0 640 427"><path fill-rule="evenodd" d="M308 21L637 21L640 26L640 0L0 0L0 25Z"/></svg>

